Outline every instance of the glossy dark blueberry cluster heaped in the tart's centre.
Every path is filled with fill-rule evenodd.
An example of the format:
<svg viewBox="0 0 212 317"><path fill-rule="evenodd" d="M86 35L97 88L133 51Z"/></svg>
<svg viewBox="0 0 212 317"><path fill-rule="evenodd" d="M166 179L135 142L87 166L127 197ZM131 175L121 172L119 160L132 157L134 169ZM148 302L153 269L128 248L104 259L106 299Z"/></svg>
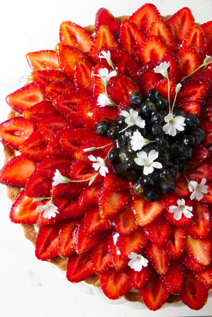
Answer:
<svg viewBox="0 0 212 317"><path fill-rule="evenodd" d="M139 116L145 120L145 127L130 126L127 127L125 117L119 117L116 122L109 125L107 122L99 122L96 126L96 133L99 135L108 135L113 140L115 148L108 154L108 160L112 163L114 171L128 178L134 183L134 191L138 195L143 195L148 201L155 201L159 192L170 193L175 189L174 178L178 173L183 173L187 165L186 163L192 158L192 148L196 143L202 142L205 133L200 129L200 119L194 115L186 115L183 109L175 109L174 117L185 117L185 128L178 131L176 135L169 136L163 131L165 116L167 116L168 100L161 97L159 91L151 89L144 100L140 93L133 93L130 96L130 102L133 106L137 106L136 111ZM127 112L130 107L126 108ZM141 135L150 140L155 141L143 146L140 151L148 153L151 150L159 152L157 162L163 166L161 169L154 169L151 174L143 174L143 166L135 163L137 152L132 149L130 143L133 132L139 131Z"/></svg>

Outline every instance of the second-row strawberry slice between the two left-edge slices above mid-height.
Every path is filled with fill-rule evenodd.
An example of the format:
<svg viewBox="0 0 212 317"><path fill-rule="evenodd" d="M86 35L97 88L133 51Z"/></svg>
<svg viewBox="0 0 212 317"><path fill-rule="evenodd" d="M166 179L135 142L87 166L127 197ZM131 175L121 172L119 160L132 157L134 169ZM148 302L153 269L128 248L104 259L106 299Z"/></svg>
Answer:
<svg viewBox="0 0 212 317"><path fill-rule="evenodd" d="M27 120L38 123L44 118L57 113L58 112L50 101L43 100L36 105L25 109L23 112L23 117Z"/></svg>

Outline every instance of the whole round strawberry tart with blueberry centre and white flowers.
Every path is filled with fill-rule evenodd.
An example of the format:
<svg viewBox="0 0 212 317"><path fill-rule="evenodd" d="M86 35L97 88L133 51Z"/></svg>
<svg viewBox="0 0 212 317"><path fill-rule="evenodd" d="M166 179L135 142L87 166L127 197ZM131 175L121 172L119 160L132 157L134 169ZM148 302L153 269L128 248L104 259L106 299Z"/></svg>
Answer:
<svg viewBox="0 0 212 317"><path fill-rule="evenodd" d="M212 21L98 10L26 54L0 182L35 255L109 299L198 310L212 288ZM35 229L38 229L38 233Z"/></svg>

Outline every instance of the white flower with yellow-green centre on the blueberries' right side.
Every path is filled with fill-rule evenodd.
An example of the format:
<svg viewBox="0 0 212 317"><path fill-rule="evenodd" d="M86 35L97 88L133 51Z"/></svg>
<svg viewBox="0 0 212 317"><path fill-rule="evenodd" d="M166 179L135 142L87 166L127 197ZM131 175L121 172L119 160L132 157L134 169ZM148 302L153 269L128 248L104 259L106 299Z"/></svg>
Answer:
<svg viewBox="0 0 212 317"><path fill-rule="evenodd" d="M173 113L169 113L165 118L164 121L167 122L163 126L163 131L165 131L166 134L172 135L173 137L176 135L177 130L183 131L185 126L185 118L182 116L177 116L174 118Z"/></svg>

